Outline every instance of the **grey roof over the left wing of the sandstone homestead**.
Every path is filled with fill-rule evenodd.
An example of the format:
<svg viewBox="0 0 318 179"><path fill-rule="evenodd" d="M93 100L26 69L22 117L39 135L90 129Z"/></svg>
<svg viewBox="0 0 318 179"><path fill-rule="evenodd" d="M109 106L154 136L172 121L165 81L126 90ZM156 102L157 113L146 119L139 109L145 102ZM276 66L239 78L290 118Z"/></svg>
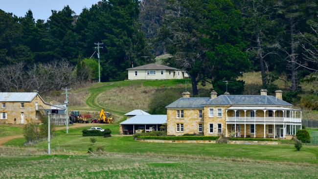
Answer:
<svg viewBox="0 0 318 179"><path fill-rule="evenodd" d="M166 106L166 108L203 108L203 104L208 100L210 100L208 97L182 97Z"/></svg>

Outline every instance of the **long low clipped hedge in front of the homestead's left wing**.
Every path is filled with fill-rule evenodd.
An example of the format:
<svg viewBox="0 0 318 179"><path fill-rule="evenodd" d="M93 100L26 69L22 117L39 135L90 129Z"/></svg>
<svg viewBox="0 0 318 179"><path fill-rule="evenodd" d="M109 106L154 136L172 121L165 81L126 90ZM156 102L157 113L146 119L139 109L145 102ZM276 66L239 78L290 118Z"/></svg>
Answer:
<svg viewBox="0 0 318 179"><path fill-rule="evenodd" d="M219 136L139 136L138 138L156 140L217 140Z"/></svg>

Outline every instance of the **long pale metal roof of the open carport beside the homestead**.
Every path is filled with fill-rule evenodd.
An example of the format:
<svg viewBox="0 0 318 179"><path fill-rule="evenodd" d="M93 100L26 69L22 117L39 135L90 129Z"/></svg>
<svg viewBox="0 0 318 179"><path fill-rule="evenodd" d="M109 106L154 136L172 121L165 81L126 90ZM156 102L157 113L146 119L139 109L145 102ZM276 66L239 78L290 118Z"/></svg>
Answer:
<svg viewBox="0 0 318 179"><path fill-rule="evenodd" d="M120 124L163 124L167 123L167 115L135 115Z"/></svg>

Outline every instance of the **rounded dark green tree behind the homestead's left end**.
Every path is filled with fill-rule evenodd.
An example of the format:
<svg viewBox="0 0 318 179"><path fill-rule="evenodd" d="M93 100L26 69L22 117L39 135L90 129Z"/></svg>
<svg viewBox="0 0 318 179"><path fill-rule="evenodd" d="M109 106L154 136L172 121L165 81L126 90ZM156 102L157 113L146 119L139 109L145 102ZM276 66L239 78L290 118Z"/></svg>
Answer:
<svg viewBox="0 0 318 179"><path fill-rule="evenodd" d="M151 114L166 114L165 107L180 98L182 90L159 90L152 95L148 106Z"/></svg>

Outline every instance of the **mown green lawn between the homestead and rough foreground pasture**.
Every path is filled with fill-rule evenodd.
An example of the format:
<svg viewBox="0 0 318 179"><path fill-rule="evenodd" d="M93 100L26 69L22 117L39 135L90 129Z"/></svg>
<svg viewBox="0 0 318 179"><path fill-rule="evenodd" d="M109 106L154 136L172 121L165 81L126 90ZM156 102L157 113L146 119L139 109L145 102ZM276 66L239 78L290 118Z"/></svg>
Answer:
<svg viewBox="0 0 318 179"><path fill-rule="evenodd" d="M147 143L138 142L132 136L95 137L97 142L91 145L91 137L60 134L51 139L51 148L65 149L86 153L89 147L96 150L101 146L107 152L125 154L156 154L172 156L201 156L221 158L246 158L252 160L305 162L318 164L318 147L303 146L300 152L294 145L230 145L230 144L189 144L189 143ZM19 143L20 140L20 143ZM24 140L23 140L24 141ZM17 138L7 146L23 146ZM35 147L47 148L47 142L38 143Z"/></svg>

